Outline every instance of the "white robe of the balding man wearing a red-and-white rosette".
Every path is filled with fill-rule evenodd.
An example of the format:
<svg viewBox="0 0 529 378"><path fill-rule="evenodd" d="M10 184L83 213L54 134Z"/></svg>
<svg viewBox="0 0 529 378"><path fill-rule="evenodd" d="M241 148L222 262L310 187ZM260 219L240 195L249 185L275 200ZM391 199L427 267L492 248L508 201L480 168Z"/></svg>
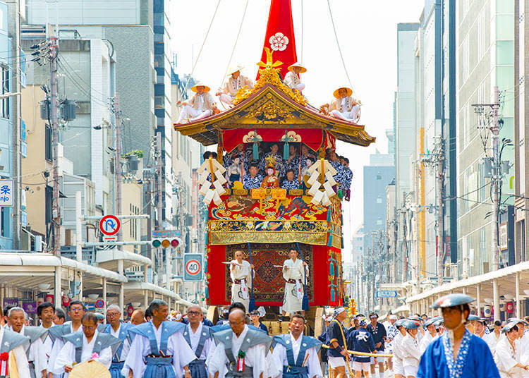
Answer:
<svg viewBox="0 0 529 378"><path fill-rule="evenodd" d="M231 351L233 352L233 358L236 360L246 334L248 334L248 326L246 325L238 337L233 331L231 332ZM250 346L250 348L246 350L244 363L246 366L253 368L253 378L260 378L261 373L264 373L262 374L263 378L267 376L266 372L269 371L267 361L267 348L265 344ZM226 351L224 350L224 343L217 344L208 362L209 365L207 366L207 370L209 374L213 377L216 372L219 372L219 378L224 378L228 372L226 363L229 362L226 357ZM279 374L279 372L272 374L272 377L276 377L277 374Z"/></svg>

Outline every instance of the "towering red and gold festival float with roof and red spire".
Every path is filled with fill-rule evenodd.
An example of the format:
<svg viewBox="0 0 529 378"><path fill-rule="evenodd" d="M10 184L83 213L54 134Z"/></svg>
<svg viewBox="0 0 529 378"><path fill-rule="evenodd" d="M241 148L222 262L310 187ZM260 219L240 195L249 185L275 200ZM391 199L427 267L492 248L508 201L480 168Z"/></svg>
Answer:
<svg viewBox="0 0 529 378"><path fill-rule="evenodd" d="M296 61L290 1L272 0L253 87L239 88L226 111L174 124L176 131L202 145L217 145L217 159L210 157L199 169L200 193L208 207L208 305L231 303L232 282L226 262L241 250L243 259L254 267L250 307L273 306L272 312L279 314L277 307L283 304L285 288L281 266L292 247L309 267L310 274L303 282L311 310L308 317L314 319L317 307L343 304L342 202L346 193L336 182L335 164L328 154L336 150L336 140L367 147L375 138L366 133L365 126L332 116L325 106L311 106L302 92L288 87L282 78ZM251 160L264 160L266 151L261 150L267 145L279 149L261 166L275 167L274 156L281 157L283 152L286 161L291 150L299 154L300 162L302 150L313 157L310 167L299 166L296 188L263 185L248 189L243 180L231 182L226 177L231 176L226 175L226 157L241 151L241 159L235 160L241 166L241 178ZM274 170L274 175L278 174Z"/></svg>

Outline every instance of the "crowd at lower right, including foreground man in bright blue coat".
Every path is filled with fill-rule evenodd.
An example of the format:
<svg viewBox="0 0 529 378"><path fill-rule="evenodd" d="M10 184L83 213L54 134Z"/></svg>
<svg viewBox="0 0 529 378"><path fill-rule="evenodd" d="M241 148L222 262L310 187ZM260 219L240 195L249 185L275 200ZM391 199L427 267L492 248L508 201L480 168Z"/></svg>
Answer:
<svg viewBox="0 0 529 378"><path fill-rule="evenodd" d="M395 378L529 377L529 317L487 327L486 319L470 314L472 300L447 295L433 305L442 316L389 315L384 323L376 313L348 320L345 309L336 309L319 337L329 345L322 361L332 377L348 370L353 377L375 377L376 367L380 378L385 371Z"/></svg>

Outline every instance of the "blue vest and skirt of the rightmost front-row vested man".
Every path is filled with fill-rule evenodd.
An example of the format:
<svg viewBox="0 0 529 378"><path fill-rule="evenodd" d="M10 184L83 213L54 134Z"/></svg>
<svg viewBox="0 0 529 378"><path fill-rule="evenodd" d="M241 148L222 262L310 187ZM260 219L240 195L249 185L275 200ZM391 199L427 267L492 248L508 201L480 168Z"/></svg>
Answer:
<svg viewBox="0 0 529 378"><path fill-rule="evenodd" d="M302 337L303 339L301 339L298 358L294 360L294 350L292 348L290 334L274 336L272 346L275 348L276 344L279 343L286 349L286 360L288 361L288 365L283 367L283 378L309 378L308 367L303 366L305 352L308 349L315 347L316 353L318 353L322 346L322 342L314 337L304 335L302 335Z"/></svg>

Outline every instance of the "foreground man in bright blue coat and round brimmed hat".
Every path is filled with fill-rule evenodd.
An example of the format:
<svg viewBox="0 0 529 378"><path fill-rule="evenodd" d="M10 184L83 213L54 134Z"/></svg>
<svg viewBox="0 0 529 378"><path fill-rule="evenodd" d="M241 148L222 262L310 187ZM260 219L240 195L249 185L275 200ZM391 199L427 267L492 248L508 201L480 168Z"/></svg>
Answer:
<svg viewBox="0 0 529 378"><path fill-rule="evenodd" d="M417 378L499 378L492 353L485 341L470 334L465 324L474 298L449 294L430 308L440 308L445 332L426 349L420 358Z"/></svg>

